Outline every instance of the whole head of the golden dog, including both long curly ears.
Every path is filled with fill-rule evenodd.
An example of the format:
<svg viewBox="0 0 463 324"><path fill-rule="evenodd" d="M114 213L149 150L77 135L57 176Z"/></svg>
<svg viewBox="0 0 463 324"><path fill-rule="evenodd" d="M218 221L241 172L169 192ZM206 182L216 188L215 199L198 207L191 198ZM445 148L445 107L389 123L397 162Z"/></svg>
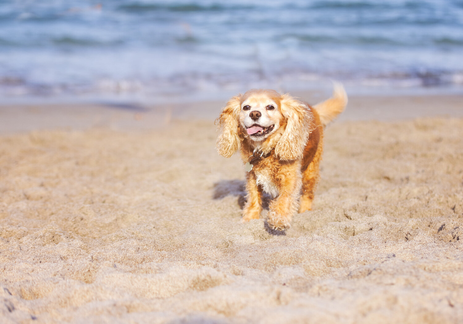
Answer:
<svg viewBox="0 0 463 324"><path fill-rule="evenodd" d="M252 146L268 141L280 159L299 159L311 132L312 119L308 106L291 95L252 89L232 97L222 109L217 150L228 158L245 139Z"/></svg>

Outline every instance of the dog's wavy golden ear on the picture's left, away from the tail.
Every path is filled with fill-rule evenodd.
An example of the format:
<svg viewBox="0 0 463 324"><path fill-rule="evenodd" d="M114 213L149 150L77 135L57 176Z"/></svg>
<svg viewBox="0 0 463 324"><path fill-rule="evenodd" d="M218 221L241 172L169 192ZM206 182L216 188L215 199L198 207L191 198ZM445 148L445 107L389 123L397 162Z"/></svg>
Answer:
<svg viewBox="0 0 463 324"><path fill-rule="evenodd" d="M236 95L230 99L222 109L219 118L219 137L217 138L217 152L229 158L241 147L241 136L238 125L238 115L241 110L241 98Z"/></svg>

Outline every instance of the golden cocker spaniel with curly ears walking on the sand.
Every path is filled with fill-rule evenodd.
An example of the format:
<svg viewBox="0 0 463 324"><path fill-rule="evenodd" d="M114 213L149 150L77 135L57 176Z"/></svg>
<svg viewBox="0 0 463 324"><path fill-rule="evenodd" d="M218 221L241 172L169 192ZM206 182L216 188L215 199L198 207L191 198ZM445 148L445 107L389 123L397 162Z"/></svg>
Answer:
<svg viewBox="0 0 463 324"><path fill-rule="evenodd" d="M340 83L330 99L313 107L269 89L251 89L227 102L217 119L217 151L226 158L241 153L247 180L242 222L260 217L263 192L274 198L267 215L272 229L288 229L296 211L312 209L323 131L346 105Z"/></svg>

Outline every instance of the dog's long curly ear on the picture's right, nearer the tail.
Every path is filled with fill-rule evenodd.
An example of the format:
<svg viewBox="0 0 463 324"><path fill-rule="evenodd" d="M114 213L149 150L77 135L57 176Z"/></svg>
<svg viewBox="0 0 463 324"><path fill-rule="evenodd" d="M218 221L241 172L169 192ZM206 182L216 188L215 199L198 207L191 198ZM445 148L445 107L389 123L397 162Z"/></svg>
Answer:
<svg viewBox="0 0 463 324"><path fill-rule="evenodd" d="M313 130L313 113L305 103L289 94L282 95L281 110L287 122L285 131L275 146L275 153L283 160L299 159Z"/></svg>

